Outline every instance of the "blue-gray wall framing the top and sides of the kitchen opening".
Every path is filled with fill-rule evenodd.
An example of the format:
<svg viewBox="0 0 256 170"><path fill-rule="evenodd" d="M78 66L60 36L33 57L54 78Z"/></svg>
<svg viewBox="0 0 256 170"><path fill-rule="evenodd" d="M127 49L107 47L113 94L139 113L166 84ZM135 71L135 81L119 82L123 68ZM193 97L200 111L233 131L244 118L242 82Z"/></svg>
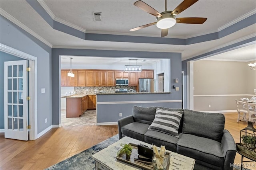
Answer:
<svg viewBox="0 0 256 170"><path fill-rule="evenodd" d="M115 51L115 50L92 50L92 49L52 49L52 124L60 123L60 55L92 56L92 57L136 57L136 58L161 58L170 59L170 86L180 87L181 82L175 83L175 78L181 80L181 53L145 52L145 51ZM175 91L164 97L168 100L182 100L182 91ZM145 100L148 99L144 96ZM177 107L177 106L176 106ZM180 104L181 107L181 104Z"/></svg>

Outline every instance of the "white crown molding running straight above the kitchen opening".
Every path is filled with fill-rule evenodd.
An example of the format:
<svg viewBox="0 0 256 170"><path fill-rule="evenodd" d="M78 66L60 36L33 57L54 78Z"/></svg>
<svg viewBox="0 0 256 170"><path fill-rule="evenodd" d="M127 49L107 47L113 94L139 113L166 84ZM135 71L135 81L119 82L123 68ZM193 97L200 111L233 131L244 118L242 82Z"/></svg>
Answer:
<svg viewBox="0 0 256 170"><path fill-rule="evenodd" d="M166 52L182 53L183 50L157 50L157 49L125 49L125 48L104 48L104 47L81 47L81 46L52 46L54 49L92 49L92 50L114 50L114 51L147 51L147 52Z"/></svg>

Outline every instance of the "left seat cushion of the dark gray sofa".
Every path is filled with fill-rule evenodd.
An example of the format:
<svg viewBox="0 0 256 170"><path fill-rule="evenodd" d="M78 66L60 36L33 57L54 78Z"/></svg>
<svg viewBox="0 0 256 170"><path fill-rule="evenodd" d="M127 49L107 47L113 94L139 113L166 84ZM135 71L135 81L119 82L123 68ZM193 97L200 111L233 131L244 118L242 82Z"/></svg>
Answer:
<svg viewBox="0 0 256 170"><path fill-rule="evenodd" d="M122 134L144 141L144 134L148 131L149 125L146 123L133 122L122 127Z"/></svg>

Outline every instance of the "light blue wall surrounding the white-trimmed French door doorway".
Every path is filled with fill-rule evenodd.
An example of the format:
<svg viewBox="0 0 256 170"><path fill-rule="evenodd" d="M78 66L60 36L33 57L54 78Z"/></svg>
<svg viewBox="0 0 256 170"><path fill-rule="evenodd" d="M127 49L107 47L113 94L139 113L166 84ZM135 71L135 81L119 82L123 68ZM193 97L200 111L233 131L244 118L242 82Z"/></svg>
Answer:
<svg viewBox="0 0 256 170"><path fill-rule="evenodd" d="M37 129L40 133L52 125L51 48L1 15L0 30L1 44L37 58ZM44 94L41 88L45 88Z"/></svg>

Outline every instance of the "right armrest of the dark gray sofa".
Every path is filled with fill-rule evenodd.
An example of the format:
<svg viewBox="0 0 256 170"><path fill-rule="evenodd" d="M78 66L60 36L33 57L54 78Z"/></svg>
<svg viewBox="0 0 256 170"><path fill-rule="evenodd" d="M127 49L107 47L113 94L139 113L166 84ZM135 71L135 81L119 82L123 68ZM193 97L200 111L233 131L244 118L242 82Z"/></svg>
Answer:
<svg viewBox="0 0 256 170"><path fill-rule="evenodd" d="M233 170L232 164L236 156L236 144L228 130L223 130L221 145L224 153L224 166L223 170Z"/></svg>

